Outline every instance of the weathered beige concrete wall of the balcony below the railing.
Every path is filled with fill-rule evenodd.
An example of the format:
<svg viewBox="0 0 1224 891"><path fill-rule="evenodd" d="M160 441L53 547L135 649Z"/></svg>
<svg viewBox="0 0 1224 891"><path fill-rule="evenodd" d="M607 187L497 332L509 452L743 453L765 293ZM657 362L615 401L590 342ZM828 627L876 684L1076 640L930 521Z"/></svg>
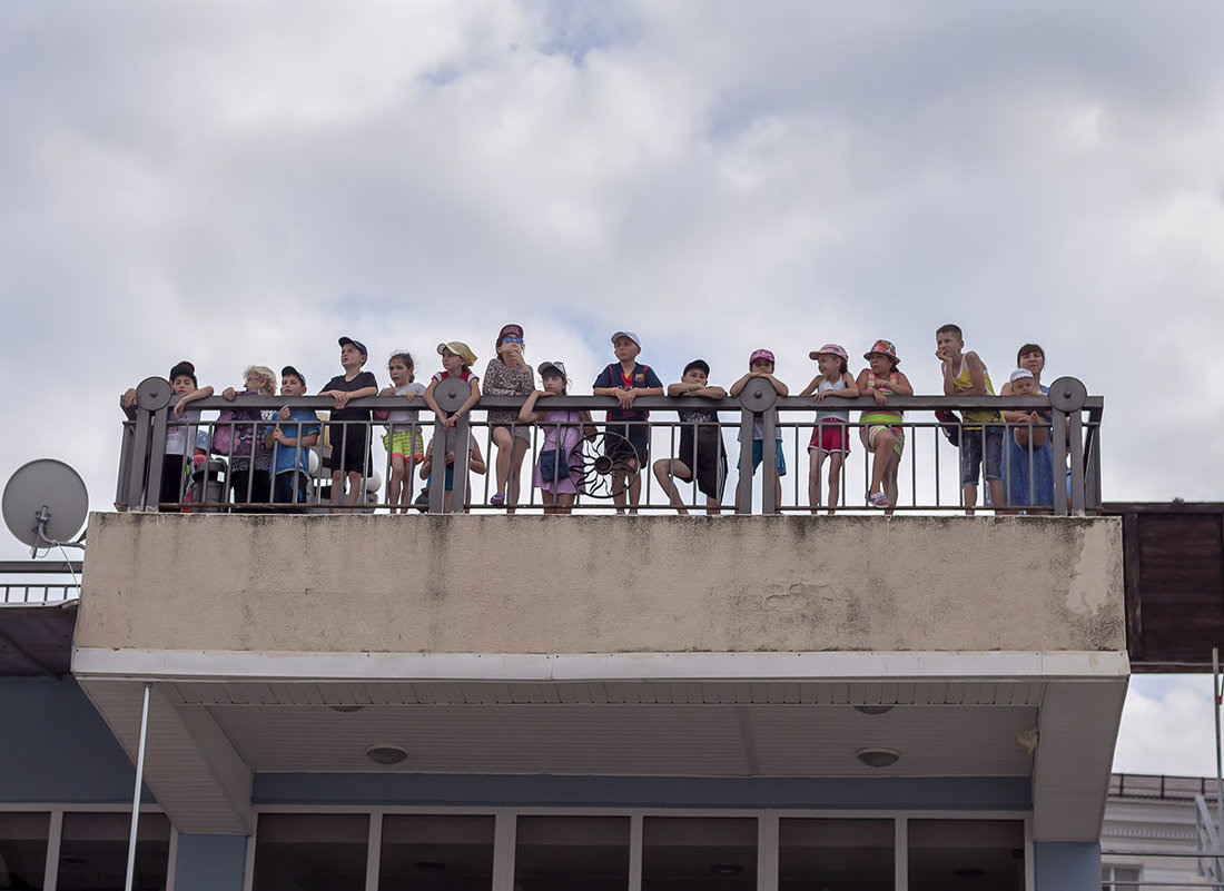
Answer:
<svg viewBox="0 0 1224 891"><path fill-rule="evenodd" d="M1125 650L1114 519L93 514L76 645Z"/></svg>

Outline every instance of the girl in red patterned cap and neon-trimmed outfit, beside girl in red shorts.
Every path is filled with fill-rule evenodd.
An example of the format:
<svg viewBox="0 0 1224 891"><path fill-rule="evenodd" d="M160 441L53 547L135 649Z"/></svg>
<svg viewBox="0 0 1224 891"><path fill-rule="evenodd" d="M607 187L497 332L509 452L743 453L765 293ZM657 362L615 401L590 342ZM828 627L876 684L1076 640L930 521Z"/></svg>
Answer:
<svg viewBox="0 0 1224 891"><path fill-rule="evenodd" d="M891 395L912 397L914 388L905 372L897 371L901 360L891 341L876 340L863 354L863 359L868 361L868 367L858 372L854 384L860 394L874 397L878 406L868 409L858 419L859 439L873 455L867 503L891 514L897 504L897 471L901 469L901 453L906 448L906 431L901 426L902 412L886 409L885 405Z"/></svg>

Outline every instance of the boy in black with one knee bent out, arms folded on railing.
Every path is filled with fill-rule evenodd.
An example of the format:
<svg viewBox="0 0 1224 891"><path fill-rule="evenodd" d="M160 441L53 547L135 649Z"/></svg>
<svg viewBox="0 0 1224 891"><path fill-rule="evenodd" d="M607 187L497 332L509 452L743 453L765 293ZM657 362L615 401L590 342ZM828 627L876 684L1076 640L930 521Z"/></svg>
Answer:
<svg viewBox="0 0 1224 891"><path fill-rule="evenodd" d="M711 387L709 378L710 366L703 359L694 359L684 366L679 383L668 386L667 395L725 399L727 390ZM705 513L715 516L722 510L722 487L727 480L727 452L722 446L718 412L701 406L701 399L687 401L692 401L693 408L676 412L681 417L679 458L655 461L655 477L681 514L688 510L676 491L673 477L682 482L696 482L698 491L705 496Z"/></svg>

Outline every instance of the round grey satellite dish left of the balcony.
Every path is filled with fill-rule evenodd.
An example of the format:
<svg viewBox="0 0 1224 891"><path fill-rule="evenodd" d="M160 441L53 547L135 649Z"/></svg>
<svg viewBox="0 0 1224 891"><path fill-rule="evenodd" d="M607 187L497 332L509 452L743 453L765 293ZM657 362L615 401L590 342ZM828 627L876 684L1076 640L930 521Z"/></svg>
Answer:
<svg viewBox="0 0 1224 891"><path fill-rule="evenodd" d="M89 513L89 492L64 461L39 458L22 465L4 487L4 523L32 551L70 541Z"/></svg>

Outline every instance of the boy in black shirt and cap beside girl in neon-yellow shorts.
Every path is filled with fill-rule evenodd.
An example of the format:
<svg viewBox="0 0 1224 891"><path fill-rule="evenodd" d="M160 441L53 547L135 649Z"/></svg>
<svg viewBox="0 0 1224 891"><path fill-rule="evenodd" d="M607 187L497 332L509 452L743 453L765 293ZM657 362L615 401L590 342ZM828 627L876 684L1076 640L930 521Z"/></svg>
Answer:
<svg viewBox="0 0 1224 891"><path fill-rule="evenodd" d="M349 482L349 504L356 504L365 491L365 479L370 476L370 409L345 408L351 400L378 395L378 382L361 366L370 351L360 340L340 338L340 367L337 375L319 390L321 397L332 397L335 409L327 432L332 441L332 504L344 503L344 482ZM350 508L351 509L351 508Z"/></svg>

